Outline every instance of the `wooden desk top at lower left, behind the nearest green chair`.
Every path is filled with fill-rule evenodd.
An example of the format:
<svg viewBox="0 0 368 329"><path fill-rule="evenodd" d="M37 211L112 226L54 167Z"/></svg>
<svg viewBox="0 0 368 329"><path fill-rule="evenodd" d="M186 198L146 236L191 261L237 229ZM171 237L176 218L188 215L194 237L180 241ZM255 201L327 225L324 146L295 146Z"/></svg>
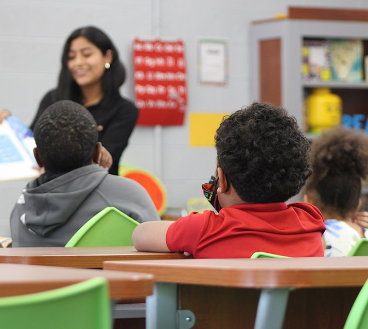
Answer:
<svg viewBox="0 0 368 329"><path fill-rule="evenodd" d="M38 293L95 277L109 281L112 299L142 299L152 294L153 276L145 273L0 264L0 297Z"/></svg>

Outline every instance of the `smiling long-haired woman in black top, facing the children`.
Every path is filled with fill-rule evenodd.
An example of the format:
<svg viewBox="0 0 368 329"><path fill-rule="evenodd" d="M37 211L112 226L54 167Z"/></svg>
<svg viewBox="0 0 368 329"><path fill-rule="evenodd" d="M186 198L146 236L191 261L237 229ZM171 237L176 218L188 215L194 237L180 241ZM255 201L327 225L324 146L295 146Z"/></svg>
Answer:
<svg viewBox="0 0 368 329"><path fill-rule="evenodd" d="M58 86L41 100L30 128L33 130L45 109L58 100L84 105L97 122L99 141L112 156L109 172L117 175L119 159L134 129L138 109L119 94L119 87L125 81L125 68L115 46L96 27L78 28L65 42L61 64ZM106 159L106 154L102 157Z"/></svg>

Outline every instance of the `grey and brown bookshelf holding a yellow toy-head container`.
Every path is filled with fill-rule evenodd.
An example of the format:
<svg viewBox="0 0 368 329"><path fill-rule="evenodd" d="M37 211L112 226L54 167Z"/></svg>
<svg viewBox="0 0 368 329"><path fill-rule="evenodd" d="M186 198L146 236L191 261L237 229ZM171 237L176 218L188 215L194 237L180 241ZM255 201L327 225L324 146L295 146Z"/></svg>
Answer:
<svg viewBox="0 0 368 329"><path fill-rule="evenodd" d="M287 108L304 126L304 99L312 88L328 87L341 97L344 114L367 117L366 77L361 82L304 81L301 66L305 39L361 39L368 55L368 10L290 7L288 17L252 24L252 99Z"/></svg>

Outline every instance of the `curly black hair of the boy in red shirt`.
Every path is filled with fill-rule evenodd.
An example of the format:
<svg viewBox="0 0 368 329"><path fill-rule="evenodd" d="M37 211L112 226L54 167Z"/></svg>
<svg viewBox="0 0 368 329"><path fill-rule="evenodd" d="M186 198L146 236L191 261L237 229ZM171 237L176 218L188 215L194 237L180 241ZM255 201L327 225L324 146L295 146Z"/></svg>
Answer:
<svg viewBox="0 0 368 329"><path fill-rule="evenodd" d="M247 203L285 202L310 175L310 144L286 109L254 102L224 117L217 165Z"/></svg>

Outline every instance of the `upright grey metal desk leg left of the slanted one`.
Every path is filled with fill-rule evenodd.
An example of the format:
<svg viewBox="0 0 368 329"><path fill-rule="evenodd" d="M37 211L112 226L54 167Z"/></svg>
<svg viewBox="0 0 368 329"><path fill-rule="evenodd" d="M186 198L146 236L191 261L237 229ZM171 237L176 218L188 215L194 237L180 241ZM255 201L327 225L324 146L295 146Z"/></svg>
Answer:
<svg viewBox="0 0 368 329"><path fill-rule="evenodd" d="M176 328L177 301L177 284L156 282L153 295L146 298L146 328Z"/></svg>

